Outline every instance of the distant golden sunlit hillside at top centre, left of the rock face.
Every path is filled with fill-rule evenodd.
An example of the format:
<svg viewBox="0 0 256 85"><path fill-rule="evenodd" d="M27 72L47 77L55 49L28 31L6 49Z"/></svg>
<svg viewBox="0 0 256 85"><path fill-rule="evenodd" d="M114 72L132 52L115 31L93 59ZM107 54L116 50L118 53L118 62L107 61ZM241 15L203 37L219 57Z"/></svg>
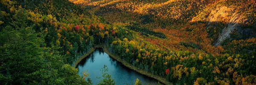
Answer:
<svg viewBox="0 0 256 85"><path fill-rule="evenodd" d="M138 21L161 27L186 23L215 0L71 0L110 22ZM119 16L113 16L119 15ZM152 26L152 25L149 25ZM165 27L161 27L165 28Z"/></svg>

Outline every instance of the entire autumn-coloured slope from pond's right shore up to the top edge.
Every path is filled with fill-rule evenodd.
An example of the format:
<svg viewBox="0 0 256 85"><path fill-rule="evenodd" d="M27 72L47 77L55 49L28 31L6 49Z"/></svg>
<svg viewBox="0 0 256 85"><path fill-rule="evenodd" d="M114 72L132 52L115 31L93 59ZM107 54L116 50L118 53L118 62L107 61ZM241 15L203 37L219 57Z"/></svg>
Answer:
<svg viewBox="0 0 256 85"><path fill-rule="evenodd" d="M115 25L138 30L148 28L163 33L166 38L146 36L147 34L137 31L141 36L139 35L140 38L137 37L135 41L145 45L145 50L143 46L137 47L142 49L138 50L138 57L136 52L134 53L136 58L133 59L127 56L121 57L152 74L166 77L174 84L255 83L240 81L246 79L241 75L248 75L247 78L249 75L250 78L255 77L253 76L255 74L249 72L255 68L255 64L250 63L255 62L250 59L254 58L256 47L254 0L72 0L72 2ZM115 50L121 49L118 42L118 39L112 42L113 46L116 46L113 51L122 55ZM125 42L124 40L123 43ZM123 47L127 48L125 45ZM136 48L128 47L137 51ZM136 62L132 62L134 60ZM170 71L170 74L167 72L165 75L165 71Z"/></svg>

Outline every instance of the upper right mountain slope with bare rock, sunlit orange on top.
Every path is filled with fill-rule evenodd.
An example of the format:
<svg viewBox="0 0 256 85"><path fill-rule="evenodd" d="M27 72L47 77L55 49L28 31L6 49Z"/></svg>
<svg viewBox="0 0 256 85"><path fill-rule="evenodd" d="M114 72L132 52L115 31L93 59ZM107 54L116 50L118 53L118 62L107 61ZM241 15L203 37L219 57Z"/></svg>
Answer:
<svg viewBox="0 0 256 85"><path fill-rule="evenodd" d="M223 0L213 6L204 8L192 22L207 23L209 38L214 40L214 45L256 36L255 1Z"/></svg>

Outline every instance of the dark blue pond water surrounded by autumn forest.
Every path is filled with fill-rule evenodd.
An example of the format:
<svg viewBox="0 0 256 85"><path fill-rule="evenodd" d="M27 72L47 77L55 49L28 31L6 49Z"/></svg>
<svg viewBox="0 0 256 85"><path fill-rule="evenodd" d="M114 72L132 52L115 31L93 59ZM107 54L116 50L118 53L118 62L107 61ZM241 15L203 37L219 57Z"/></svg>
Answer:
<svg viewBox="0 0 256 85"><path fill-rule="evenodd" d="M77 66L78 74L83 76L82 72L88 70L87 73L90 75L87 78L90 78L93 85L96 85L101 80L97 77L102 77L100 69L103 68L103 65L107 65L108 74L110 74L111 78L114 79L116 85L134 85L137 78L146 85L156 85L158 82L155 79L139 74L136 71L125 67L122 63L109 57L109 55L102 49L96 49L92 54L79 62Z"/></svg>

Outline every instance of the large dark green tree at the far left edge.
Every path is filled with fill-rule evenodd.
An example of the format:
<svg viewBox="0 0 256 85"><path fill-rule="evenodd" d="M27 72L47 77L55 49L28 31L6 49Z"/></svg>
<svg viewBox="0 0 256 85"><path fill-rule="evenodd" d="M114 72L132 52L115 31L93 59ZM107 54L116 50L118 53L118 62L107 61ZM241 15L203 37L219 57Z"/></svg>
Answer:
<svg viewBox="0 0 256 85"><path fill-rule="evenodd" d="M26 84L32 78L30 74L44 63L39 47L42 39L31 27L8 31L9 28L12 27L0 32L0 40L4 40L0 45L0 74L9 80L2 84Z"/></svg>

